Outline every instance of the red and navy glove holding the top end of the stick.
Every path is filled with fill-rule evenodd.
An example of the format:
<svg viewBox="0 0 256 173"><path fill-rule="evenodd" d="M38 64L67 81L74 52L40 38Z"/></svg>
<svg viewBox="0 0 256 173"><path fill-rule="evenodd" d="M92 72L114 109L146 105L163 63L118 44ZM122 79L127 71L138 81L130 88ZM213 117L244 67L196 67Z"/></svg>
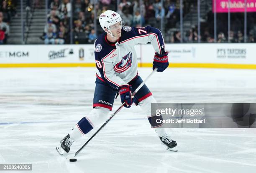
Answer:
<svg viewBox="0 0 256 173"><path fill-rule="evenodd" d="M165 52L164 55L155 53L156 55L154 56L153 70L157 68L157 72L163 72L169 66L168 53L169 52Z"/></svg>

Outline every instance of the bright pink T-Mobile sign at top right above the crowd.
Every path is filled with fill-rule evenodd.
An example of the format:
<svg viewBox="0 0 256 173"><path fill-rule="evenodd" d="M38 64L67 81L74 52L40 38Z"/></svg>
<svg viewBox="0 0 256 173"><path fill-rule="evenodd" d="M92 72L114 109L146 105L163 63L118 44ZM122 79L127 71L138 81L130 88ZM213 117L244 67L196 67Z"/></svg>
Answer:
<svg viewBox="0 0 256 173"><path fill-rule="evenodd" d="M230 13L256 11L256 0L212 0L212 11L214 12L214 2L216 1L216 13ZM245 3L246 2L246 3Z"/></svg>

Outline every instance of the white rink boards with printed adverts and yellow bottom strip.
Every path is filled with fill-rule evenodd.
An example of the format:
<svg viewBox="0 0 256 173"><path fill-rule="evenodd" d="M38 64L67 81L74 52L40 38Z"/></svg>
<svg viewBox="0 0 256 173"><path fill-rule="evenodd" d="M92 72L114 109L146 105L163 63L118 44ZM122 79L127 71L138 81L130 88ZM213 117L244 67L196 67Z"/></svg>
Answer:
<svg viewBox="0 0 256 173"><path fill-rule="evenodd" d="M166 44L171 68L256 69L255 43ZM154 49L135 46L138 66L151 67ZM94 67L94 45L2 45L0 67Z"/></svg>

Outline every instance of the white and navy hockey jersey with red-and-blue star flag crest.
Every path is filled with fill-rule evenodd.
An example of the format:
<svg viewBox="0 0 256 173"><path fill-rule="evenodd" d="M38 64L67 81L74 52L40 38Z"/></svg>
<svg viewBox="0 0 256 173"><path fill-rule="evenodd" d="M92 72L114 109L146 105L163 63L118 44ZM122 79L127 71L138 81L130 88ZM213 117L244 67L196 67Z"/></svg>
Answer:
<svg viewBox="0 0 256 173"><path fill-rule="evenodd" d="M127 85L138 75L134 45L148 42L160 55L165 53L164 38L160 30L150 26L144 28L124 26L122 35L116 43L107 40L107 33L100 35L95 41L97 78L117 90L121 85ZM153 58L154 55L152 60Z"/></svg>

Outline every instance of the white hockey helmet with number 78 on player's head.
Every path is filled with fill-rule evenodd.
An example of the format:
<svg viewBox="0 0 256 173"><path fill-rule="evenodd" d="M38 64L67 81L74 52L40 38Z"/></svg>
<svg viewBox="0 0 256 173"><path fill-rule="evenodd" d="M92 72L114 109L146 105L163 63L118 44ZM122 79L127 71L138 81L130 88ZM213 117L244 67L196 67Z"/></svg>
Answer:
<svg viewBox="0 0 256 173"><path fill-rule="evenodd" d="M107 10L105 11L104 13L101 13L100 14L100 18L99 18L99 21L100 21L100 26L101 28L105 31L105 28L107 28L108 32L110 34L111 37L114 37L112 32L110 31L110 26L111 25L114 25L118 22L121 23L121 28L123 28L123 19L121 18L121 16L112 11L112 10Z"/></svg>

